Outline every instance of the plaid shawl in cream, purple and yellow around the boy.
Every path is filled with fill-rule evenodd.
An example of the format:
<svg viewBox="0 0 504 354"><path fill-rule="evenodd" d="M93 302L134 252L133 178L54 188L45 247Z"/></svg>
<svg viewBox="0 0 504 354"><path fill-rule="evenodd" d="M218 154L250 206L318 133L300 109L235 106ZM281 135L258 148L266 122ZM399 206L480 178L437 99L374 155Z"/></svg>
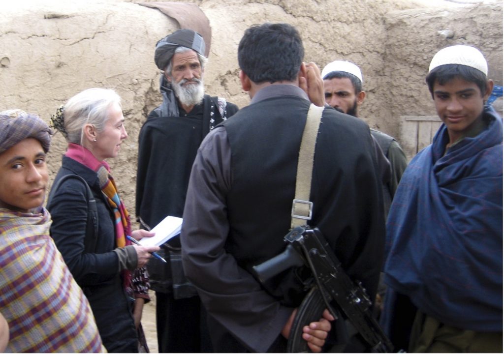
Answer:
<svg viewBox="0 0 504 354"><path fill-rule="evenodd" d="M88 300L49 236L50 216L0 209L7 352L103 352Z"/></svg>

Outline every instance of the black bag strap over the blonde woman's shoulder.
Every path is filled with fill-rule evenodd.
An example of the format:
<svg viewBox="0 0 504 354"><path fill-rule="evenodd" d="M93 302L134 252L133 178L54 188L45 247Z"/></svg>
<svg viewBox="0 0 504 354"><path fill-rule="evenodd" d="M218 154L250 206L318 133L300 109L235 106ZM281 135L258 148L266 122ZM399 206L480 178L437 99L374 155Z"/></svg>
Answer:
<svg viewBox="0 0 504 354"><path fill-rule="evenodd" d="M86 186L86 200L88 202L88 220L86 222L86 236L84 238L84 253L94 253L96 250L96 242L98 240L98 209L96 207L96 199L89 187L88 183L79 175L65 175L61 177L56 184L51 187L47 205L51 203L54 192L68 179L80 180Z"/></svg>

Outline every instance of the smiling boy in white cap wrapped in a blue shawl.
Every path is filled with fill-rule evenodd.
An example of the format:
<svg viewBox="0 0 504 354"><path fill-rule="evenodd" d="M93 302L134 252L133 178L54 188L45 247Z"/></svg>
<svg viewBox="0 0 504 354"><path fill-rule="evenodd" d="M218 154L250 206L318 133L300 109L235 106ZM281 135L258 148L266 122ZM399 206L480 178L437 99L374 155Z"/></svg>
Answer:
<svg viewBox="0 0 504 354"><path fill-rule="evenodd" d="M443 124L390 209L382 325L396 349L501 352L502 118L485 107L493 82L467 45L439 50L426 82Z"/></svg>

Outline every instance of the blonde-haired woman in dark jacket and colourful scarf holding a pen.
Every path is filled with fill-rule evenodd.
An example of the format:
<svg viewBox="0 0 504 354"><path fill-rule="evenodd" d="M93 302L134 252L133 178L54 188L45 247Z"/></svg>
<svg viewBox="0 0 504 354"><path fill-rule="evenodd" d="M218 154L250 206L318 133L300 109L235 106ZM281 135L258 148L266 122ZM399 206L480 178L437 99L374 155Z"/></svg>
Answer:
<svg viewBox="0 0 504 354"><path fill-rule="evenodd" d="M105 162L117 156L128 137L120 97L113 90L85 90L60 107L51 123L69 143L54 179L57 188L47 203L53 220L51 237L91 304L107 350L137 352L142 307L149 300L142 267L159 247L132 245L126 238L152 233L131 230L128 211ZM66 175L82 180L67 178L60 183ZM92 204L84 181L96 200L97 232L86 229L93 223L88 223Z"/></svg>

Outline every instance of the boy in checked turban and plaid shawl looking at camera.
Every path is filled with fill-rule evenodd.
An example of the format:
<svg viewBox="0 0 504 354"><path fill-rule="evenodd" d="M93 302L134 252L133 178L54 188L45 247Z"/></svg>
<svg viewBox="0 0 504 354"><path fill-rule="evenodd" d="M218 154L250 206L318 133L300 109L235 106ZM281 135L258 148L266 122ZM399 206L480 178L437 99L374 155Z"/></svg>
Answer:
<svg viewBox="0 0 504 354"><path fill-rule="evenodd" d="M49 236L42 207L50 129L0 113L0 313L7 352L104 352L88 300ZM3 330L2 330L3 331Z"/></svg>

